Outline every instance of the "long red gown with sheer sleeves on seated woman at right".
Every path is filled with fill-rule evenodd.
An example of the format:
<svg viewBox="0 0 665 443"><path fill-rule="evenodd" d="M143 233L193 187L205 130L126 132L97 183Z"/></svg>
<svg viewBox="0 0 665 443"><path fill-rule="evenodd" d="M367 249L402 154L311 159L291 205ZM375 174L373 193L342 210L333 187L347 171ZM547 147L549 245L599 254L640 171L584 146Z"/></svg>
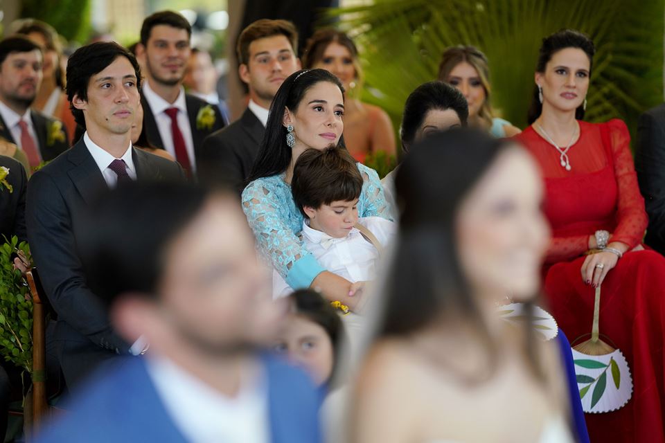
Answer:
<svg viewBox="0 0 665 443"><path fill-rule="evenodd" d="M544 292L571 342L592 327L595 292L580 272L589 235L605 229L610 242L632 249L648 222L626 125L621 120L579 124L580 137L568 152L570 171L533 127L516 136L544 176L544 211L553 235ZM600 330L626 356L633 393L619 410L586 415L592 442L665 442L664 325L665 257L655 251L624 254L602 285Z"/></svg>

